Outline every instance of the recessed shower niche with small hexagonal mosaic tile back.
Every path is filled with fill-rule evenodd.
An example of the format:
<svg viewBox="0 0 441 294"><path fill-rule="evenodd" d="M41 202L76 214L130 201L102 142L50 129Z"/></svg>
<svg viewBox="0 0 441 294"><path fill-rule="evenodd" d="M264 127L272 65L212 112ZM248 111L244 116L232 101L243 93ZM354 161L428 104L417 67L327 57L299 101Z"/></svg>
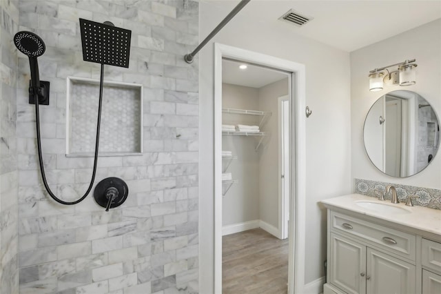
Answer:
<svg viewBox="0 0 441 294"><path fill-rule="evenodd" d="M93 156L99 106L99 81L68 77L66 154ZM143 86L104 81L99 155L143 152Z"/></svg>

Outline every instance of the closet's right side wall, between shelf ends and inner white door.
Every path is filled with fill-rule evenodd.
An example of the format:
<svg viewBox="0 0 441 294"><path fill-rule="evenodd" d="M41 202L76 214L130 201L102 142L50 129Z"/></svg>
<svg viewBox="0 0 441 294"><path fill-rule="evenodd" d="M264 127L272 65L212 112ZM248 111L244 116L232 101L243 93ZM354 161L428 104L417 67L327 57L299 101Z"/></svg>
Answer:
<svg viewBox="0 0 441 294"><path fill-rule="evenodd" d="M264 126L271 135L260 149L259 199L260 220L278 228L278 97L288 95L288 79L276 81L259 89L259 110L270 111L271 117Z"/></svg>

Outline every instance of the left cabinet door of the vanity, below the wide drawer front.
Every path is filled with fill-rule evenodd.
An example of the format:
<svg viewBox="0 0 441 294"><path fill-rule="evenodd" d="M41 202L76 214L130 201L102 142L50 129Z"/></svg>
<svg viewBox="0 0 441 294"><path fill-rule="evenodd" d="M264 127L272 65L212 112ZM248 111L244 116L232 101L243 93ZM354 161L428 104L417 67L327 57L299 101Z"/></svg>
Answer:
<svg viewBox="0 0 441 294"><path fill-rule="evenodd" d="M331 233L330 283L346 293L365 293L366 246Z"/></svg>

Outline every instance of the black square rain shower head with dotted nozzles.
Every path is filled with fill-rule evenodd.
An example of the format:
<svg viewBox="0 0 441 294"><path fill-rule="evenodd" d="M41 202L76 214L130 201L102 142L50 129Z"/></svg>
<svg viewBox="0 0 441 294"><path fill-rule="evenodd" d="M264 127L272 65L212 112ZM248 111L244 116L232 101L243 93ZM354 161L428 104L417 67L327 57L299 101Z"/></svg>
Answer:
<svg viewBox="0 0 441 294"><path fill-rule="evenodd" d="M80 19L83 60L129 67L131 30Z"/></svg>

